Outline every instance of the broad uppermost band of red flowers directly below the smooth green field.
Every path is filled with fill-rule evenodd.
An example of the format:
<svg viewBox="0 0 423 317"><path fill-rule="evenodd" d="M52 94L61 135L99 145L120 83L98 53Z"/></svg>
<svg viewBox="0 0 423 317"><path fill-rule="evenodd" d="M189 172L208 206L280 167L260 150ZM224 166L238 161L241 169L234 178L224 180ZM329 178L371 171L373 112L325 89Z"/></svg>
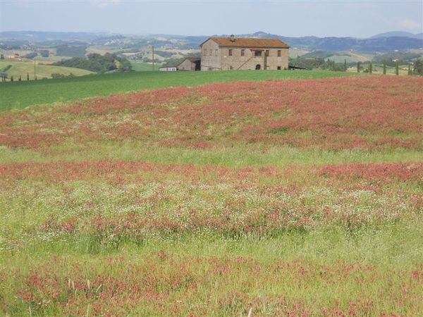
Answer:
<svg viewBox="0 0 423 317"><path fill-rule="evenodd" d="M0 144L134 140L166 147L257 143L323 149L422 147L422 78L235 82L99 97L0 116Z"/></svg>

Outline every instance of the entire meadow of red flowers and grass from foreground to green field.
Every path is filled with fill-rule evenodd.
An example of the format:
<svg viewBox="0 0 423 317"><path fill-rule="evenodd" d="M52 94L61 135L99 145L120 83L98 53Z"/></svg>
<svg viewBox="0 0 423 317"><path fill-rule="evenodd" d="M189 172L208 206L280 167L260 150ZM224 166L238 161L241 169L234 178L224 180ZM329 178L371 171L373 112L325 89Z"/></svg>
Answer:
<svg viewBox="0 0 423 317"><path fill-rule="evenodd" d="M422 316L422 85L180 82L1 112L1 314Z"/></svg>

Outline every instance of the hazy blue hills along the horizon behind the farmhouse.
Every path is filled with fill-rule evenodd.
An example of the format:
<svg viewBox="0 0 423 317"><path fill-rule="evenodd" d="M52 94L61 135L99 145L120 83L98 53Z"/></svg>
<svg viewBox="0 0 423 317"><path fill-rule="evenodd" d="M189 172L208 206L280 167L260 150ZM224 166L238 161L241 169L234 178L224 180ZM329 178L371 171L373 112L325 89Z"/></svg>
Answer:
<svg viewBox="0 0 423 317"><path fill-rule="evenodd" d="M228 36L228 35L221 35ZM387 52L404 51L423 48L423 34L409 32L386 32L367 39L354 37L286 37L266 32L235 35L237 37L271 37L281 39L291 47L309 51L361 51ZM183 48L198 48L208 36L182 35L117 35L106 32L34 32L16 31L0 32L2 45L80 45L100 44L118 46L121 49L132 49L140 46L157 45Z"/></svg>

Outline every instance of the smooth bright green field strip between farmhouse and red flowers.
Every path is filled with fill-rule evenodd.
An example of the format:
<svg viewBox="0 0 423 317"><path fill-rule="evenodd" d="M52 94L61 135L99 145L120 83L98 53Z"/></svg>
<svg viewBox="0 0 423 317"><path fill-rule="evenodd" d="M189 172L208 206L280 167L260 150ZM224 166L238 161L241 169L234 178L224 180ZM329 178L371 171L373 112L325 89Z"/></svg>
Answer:
<svg viewBox="0 0 423 317"><path fill-rule="evenodd" d="M353 73L347 75L355 75ZM0 111L34 104L110 95L139 89L204 85L236 80L283 80L293 78L341 77L329 71L238 70L231 72L133 72L92 75L64 80L6 82L0 84Z"/></svg>

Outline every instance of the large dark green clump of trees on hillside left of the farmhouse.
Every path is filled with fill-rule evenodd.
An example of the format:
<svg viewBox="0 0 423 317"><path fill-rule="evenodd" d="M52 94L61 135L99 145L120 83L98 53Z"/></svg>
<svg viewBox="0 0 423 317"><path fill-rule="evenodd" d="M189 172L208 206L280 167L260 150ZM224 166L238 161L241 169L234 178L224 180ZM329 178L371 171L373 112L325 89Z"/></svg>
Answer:
<svg viewBox="0 0 423 317"><path fill-rule="evenodd" d="M86 58L73 57L70 59L59 61L57 63L54 63L53 65L81 68L85 70L91 70L95 73L106 73L111 70L132 70L132 66L130 65L130 61L128 61L128 59L110 53L106 53L104 55L94 53L88 54Z"/></svg>

